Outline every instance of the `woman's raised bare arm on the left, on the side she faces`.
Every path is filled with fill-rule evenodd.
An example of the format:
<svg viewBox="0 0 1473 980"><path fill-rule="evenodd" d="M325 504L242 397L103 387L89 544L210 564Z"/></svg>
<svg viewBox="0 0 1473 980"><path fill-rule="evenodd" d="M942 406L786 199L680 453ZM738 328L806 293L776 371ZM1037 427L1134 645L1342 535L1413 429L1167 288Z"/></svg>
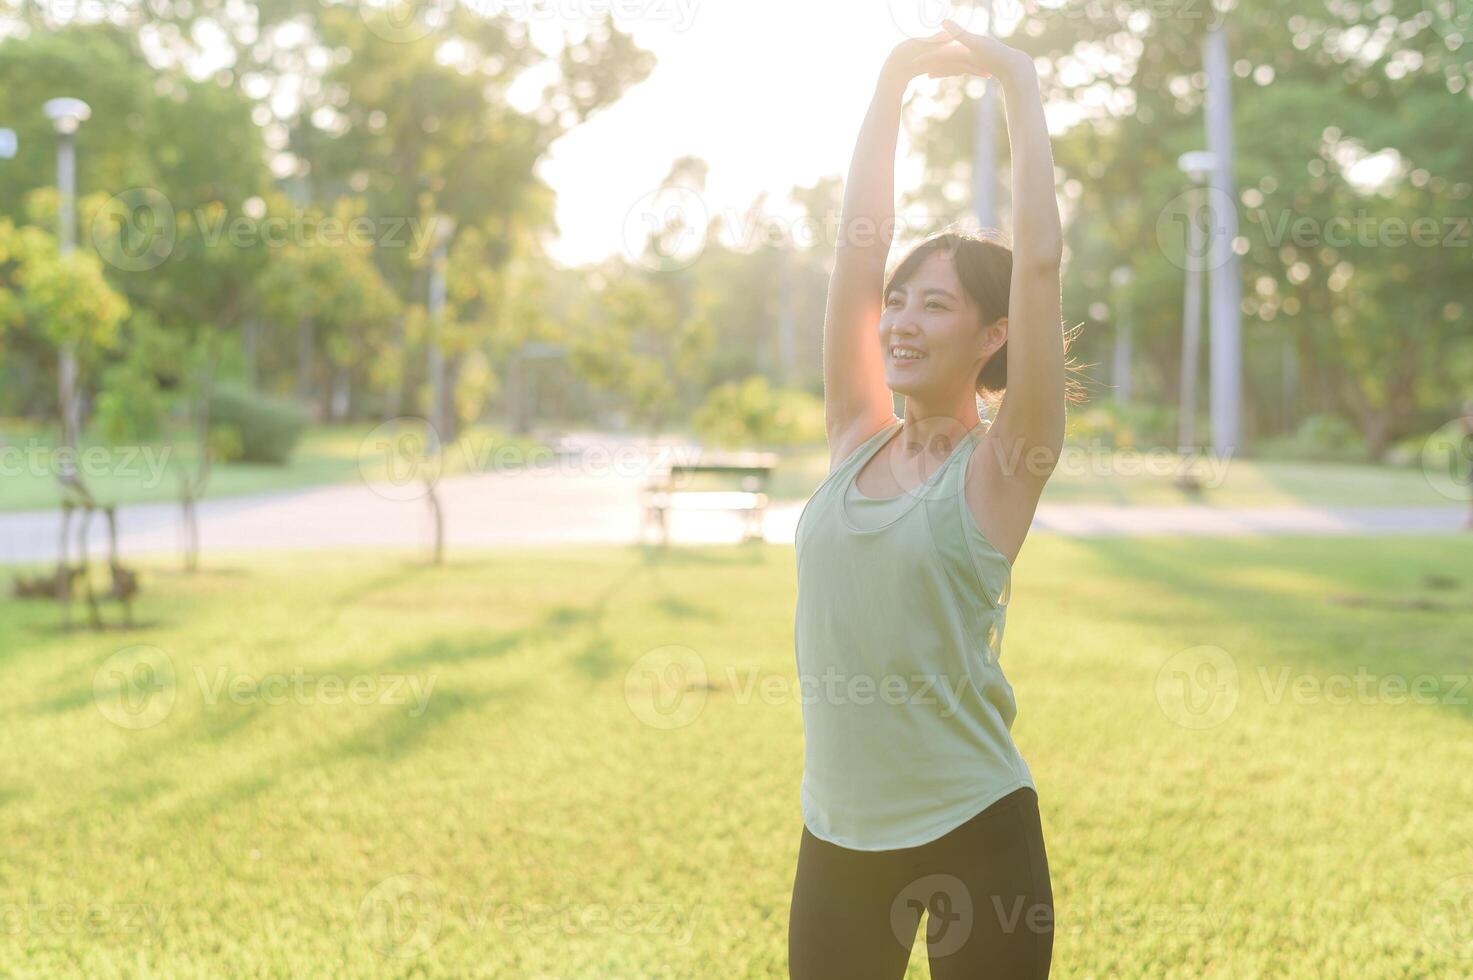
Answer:
<svg viewBox="0 0 1473 980"><path fill-rule="evenodd" d="M907 40L890 53L854 144L823 314L823 426L831 466L894 419L879 349L879 293L894 239L900 103L910 80L937 63L949 37Z"/></svg>

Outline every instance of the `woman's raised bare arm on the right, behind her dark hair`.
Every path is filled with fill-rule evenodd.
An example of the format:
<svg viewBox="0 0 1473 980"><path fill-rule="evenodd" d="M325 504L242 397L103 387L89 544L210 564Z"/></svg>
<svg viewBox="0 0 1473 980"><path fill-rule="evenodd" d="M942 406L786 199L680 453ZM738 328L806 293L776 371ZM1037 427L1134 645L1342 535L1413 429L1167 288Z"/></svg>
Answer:
<svg viewBox="0 0 1473 980"><path fill-rule="evenodd" d="M1033 59L1002 41L947 21L974 66L1003 87L1012 146L1012 284L1008 299L1008 392L988 436L1009 476L1041 491L1064 449L1065 386L1059 265L1064 233L1053 184L1053 152Z"/></svg>

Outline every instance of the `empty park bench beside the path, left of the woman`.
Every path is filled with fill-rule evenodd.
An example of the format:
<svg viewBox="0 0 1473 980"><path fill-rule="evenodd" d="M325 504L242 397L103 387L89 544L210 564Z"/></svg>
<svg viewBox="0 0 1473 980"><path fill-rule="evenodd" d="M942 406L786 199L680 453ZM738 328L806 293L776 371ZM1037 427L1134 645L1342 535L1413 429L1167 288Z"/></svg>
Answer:
<svg viewBox="0 0 1473 980"><path fill-rule="evenodd" d="M778 466L773 452L703 454L698 461L657 464L644 486L644 525L660 529L660 542L670 544L670 511L725 510L742 514L742 541L762 539L767 510L767 483ZM714 485L714 486L711 486ZM732 486L738 489L731 489Z"/></svg>

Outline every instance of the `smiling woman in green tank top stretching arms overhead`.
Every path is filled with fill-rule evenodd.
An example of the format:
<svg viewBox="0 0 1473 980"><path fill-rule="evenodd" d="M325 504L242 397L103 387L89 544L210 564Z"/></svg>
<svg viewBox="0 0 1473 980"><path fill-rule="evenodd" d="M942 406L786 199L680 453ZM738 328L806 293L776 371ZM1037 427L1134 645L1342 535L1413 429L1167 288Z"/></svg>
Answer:
<svg viewBox="0 0 1473 980"><path fill-rule="evenodd" d="M794 980L903 976L922 909L937 979L1046 977L1053 949L997 653L1013 559L1064 442L1062 234L1031 59L946 28L885 60L844 189L823 324L831 470L797 532ZM1002 83L1013 245L940 234L887 283L900 105L921 74ZM1009 382L982 426L978 395Z"/></svg>

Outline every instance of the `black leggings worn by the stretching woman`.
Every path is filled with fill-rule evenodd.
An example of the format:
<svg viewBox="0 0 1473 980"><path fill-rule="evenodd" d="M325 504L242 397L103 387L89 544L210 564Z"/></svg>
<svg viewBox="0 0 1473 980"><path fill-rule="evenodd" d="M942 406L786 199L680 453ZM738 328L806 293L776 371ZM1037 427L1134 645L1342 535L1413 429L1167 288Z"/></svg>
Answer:
<svg viewBox="0 0 1473 980"><path fill-rule="evenodd" d="M1049 976L1053 890L1031 788L899 850L840 847L804 827L788 914L788 976L903 977L922 908L932 980Z"/></svg>

